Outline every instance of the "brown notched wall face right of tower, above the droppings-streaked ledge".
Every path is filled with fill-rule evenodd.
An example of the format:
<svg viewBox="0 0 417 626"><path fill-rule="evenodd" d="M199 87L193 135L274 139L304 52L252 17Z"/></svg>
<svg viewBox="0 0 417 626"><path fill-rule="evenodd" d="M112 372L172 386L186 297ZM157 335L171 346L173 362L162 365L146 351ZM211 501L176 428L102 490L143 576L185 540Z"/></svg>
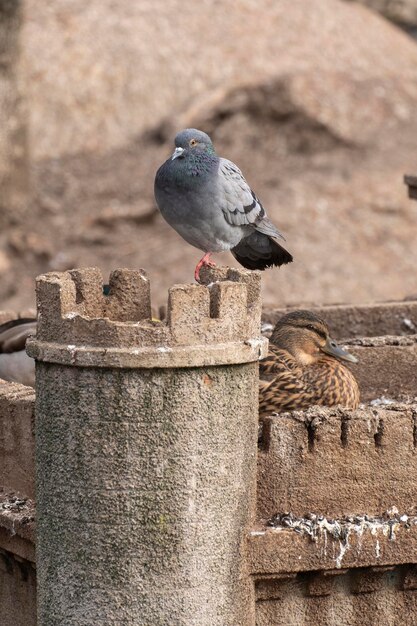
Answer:
<svg viewBox="0 0 417 626"><path fill-rule="evenodd" d="M258 517L410 513L417 472L416 405L311 408L265 418Z"/></svg>

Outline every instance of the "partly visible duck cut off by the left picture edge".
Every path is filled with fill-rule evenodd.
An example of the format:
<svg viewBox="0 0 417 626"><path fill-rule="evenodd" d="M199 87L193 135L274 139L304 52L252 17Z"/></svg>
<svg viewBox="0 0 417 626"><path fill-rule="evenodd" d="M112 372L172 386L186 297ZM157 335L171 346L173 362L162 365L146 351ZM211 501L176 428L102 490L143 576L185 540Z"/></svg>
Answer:
<svg viewBox="0 0 417 626"><path fill-rule="evenodd" d="M27 338L35 333L35 318L22 317L0 324L0 379L35 386L35 361L25 350Z"/></svg>

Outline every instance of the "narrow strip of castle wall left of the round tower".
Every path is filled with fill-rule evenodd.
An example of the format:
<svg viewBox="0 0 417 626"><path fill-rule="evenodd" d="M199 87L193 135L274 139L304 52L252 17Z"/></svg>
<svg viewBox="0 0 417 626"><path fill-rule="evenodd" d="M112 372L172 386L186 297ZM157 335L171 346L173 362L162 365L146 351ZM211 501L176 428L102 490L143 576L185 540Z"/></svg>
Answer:
<svg viewBox="0 0 417 626"><path fill-rule="evenodd" d="M0 384L0 606L5 626L36 625L33 390Z"/></svg>

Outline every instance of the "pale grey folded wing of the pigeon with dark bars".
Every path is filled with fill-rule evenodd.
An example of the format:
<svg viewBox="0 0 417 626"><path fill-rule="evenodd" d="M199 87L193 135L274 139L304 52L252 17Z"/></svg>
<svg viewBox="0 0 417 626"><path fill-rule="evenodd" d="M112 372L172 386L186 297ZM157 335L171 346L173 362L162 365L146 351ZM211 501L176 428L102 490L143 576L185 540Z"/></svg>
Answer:
<svg viewBox="0 0 417 626"><path fill-rule="evenodd" d="M284 239L268 219L259 198L249 187L240 169L227 159L220 159L218 182L221 209L232 226L253 226L258 232Z"/></svg>

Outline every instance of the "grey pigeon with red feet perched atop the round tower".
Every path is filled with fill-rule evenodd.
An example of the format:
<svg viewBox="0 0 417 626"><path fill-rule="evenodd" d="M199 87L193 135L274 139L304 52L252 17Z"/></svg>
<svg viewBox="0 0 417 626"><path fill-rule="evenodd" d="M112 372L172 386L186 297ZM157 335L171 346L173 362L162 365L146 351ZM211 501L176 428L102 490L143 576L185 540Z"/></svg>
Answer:
<svg viewBox="0 0 417 626"><path fill-rule="evenodd" d="M183 239L204 251L195 268L213 267L213 252L230 250L250 270L291 263L285 240L240 169L217 156L210 137L195 128L175 137L175 150L155 177L155 199L164 219Z"/></svg>

